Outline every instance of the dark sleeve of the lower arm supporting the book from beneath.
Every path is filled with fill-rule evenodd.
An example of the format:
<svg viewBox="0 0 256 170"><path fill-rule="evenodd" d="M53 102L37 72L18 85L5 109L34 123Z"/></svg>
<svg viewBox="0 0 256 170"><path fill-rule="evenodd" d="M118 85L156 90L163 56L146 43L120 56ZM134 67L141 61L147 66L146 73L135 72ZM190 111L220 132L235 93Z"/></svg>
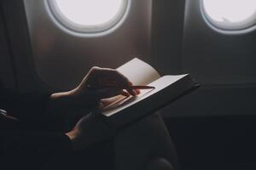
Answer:
<svg viewBox="0 0 256 170"><path fill-rule="evenodd" d="M71 149L64 133L28 132L19 120L0 115L0 169L43 166L50 156L66 156Z"/></svg>

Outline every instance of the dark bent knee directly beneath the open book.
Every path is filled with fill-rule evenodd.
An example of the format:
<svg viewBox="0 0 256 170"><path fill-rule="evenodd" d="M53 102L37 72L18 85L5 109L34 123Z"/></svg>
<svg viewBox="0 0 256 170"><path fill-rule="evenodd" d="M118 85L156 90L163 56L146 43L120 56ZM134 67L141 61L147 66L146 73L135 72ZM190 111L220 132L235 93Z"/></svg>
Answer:
<svg viewBox="0 0 256 170"><path fill-rule="evenodd" d="M177 165L172 139L160 114L148 116L119 133L115 139L115 157L117 170L143 169L153 157Z"/></svg>

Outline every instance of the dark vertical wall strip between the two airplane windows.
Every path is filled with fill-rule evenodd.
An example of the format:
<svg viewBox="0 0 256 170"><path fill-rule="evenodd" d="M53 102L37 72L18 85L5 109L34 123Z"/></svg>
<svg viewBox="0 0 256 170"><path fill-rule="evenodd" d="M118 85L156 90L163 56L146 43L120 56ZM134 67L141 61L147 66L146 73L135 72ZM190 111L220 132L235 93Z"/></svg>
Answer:
<svg viewBox="0 0 256 170"><path fill-rule="evenodd" d="M153 65L162 75L180 74L184 0L153 1Z"/></svg>

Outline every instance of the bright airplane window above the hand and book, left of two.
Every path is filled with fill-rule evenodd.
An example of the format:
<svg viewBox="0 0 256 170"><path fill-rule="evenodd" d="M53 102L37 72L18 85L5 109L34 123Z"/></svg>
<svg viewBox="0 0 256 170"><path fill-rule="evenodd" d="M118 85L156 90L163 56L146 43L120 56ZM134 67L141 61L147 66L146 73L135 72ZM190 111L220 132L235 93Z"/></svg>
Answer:
<svg viewBox="0 0 256 170"><path fill-rule="evenodd" d="M115 26L124 16L129 0L48 0L62 26L72 31L99 32Z"/></svg>

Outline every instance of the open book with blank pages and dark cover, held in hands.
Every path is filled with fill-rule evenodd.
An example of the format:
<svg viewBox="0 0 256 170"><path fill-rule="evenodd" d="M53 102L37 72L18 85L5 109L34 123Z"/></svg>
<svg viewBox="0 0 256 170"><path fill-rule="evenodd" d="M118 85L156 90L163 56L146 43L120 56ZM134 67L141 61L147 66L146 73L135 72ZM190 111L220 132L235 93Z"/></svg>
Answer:
<svg viewBox="0 0 256 170"><path fill-rule="evenodd" d="M117 70L134 85L148 85L154 89L141 90L141 94L137 96L119 95L103 99L102 103L108 105L103 108L102 115L115 127L125 126L148 116L196 87L188 74L160 77L152 66L137 58L131 59Z"/></svg>

